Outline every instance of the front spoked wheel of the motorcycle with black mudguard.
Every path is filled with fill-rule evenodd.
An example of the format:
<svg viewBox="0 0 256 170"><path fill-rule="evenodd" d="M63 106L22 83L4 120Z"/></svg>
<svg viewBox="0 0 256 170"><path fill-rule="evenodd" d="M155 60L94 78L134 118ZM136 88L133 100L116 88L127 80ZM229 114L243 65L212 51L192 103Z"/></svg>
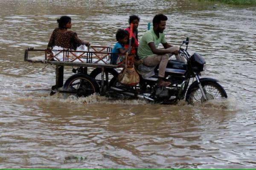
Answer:
<svg viewBox="0 0 256 170"><path fill-rule="evenodd" d="M189 94L186 94L188 104L197 105L212 99L219 99L223 97L227 98L226 91L217 82L204 82L202 84L202 87L204 89L204 93L207 97L207 100L204 99L201 90L197 85L194 88L192 88Z"/></svg>

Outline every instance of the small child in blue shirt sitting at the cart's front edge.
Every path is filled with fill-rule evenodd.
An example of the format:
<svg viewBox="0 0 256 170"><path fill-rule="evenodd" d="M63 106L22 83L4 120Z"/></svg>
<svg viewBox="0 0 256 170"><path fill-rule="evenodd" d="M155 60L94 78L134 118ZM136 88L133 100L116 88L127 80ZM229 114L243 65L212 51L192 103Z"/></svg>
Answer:
<svg viewBox="0 0 256 170"><path fill-rule="evenodd" d="M114 65L119 64L122 61L122 59L124 59L122 55L119 56L119 54L125 54L127 52L127 49L125 49L125 44L127 40L128 40L127 32L122 29L118 29L116 31L117 42L111 51L111 53L118 53L118 54L111 54L111 59L110 59L111 64L114 64Z"/></svg>

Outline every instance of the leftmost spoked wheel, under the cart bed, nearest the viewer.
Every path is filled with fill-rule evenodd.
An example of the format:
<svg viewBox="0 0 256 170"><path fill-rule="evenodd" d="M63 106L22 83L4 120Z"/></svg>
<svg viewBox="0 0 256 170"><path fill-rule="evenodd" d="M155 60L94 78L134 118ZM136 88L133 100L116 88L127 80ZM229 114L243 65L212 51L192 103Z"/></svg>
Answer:
<svg viewBox="0 0 256 170"><path fill-rule="evenodd" d="M75 74L65 82L64 91L76 94L79 97L86 97L94 93L99 93L99 86L90 76L86 74Z"/></svg>

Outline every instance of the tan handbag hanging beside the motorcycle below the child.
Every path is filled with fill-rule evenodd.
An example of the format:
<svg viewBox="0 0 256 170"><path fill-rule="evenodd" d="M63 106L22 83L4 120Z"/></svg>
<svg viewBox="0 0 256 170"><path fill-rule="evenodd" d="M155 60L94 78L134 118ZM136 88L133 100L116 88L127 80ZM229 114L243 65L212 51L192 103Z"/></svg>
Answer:
<svg viewBox="0 0 256 170"><path fill-rule="evenodd" d="M134 86L140 82L140 76L134 68L133 59L134 55L125 56L125 68L117 76L117 80L122 85Z"/></svg>

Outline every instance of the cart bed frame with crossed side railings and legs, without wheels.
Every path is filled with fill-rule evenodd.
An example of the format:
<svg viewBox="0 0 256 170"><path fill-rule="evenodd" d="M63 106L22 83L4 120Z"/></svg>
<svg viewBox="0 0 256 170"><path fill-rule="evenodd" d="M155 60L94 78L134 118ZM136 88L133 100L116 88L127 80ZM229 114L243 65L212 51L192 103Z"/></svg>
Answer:
<svg viewBox="0 0 256 170"><path fill-rule="evenodd" d="M90 51L90 48L92 51ZM44 59L35 59L35 57L29 57L29 51L44 51ZM79 56L76 55L76 52L81 53ZM63 53L63 61L60 61L56 56L60 53ZM123 68L122 64L119 65L111 65L107 64L103 59L110 57L111 54L111 47L108 46L89 46L88 51L74 51L67 48L63 50L58 50L56 55L52 55L52 49L34 49L34 48L27 48L25 49L24 54L24 61L25 62L33 62L33 63L49 63L50 65L55 65L55 86L52 86L52 90L59 91L59 92L67 92L67 91L60 91L64 84L64 66L72 66L72 67L80 67L83 68L85 71L84 74L87 74L87 68L101 68L101 87L104 85L104 74L105 68ZM53 59L56 60L53 60ZM80 62L74 62L76 59L79 59ZM83 60L82 60L83 59ZM93 61L93 59L97 59ZM102 61L104 64L99 64L98 62ZM87 74L88 75L88 74ZM108 90L108 74L106 74L106 91ZM101 95L105 94L105 89L101 89Z"/></svg>

